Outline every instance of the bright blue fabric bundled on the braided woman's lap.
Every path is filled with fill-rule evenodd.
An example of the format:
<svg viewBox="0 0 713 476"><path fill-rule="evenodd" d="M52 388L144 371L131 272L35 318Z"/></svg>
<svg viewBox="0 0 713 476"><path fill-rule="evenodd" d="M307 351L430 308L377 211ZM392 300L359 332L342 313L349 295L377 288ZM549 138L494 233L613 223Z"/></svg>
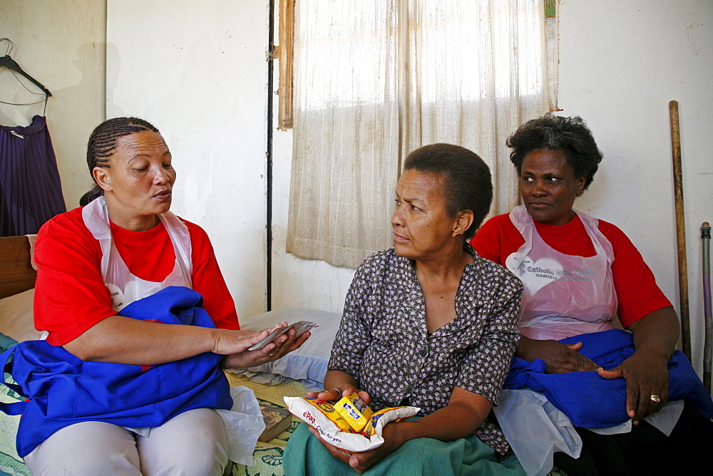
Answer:
<svg viewBox="0 0 713 476"><path fill-rule="evenodd" d="M215 328L197 292L172 286L126 306L120 315L163 324ZM123 363L86 362L46 341L21 342L0 354L26 396L0 403L22 415L16 448L24 457L53 433L73 423L101 421L130 428L155 427L195 408L232 407L222 356L202 353L148 368Z"/></svg>

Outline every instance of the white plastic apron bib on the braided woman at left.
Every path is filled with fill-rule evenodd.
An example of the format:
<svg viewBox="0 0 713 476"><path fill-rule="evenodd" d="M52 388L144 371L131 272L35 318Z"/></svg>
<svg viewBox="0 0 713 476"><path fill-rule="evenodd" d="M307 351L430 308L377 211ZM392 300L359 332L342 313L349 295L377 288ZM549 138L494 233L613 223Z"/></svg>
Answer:
<svg viewBox="0 0 713 476"><path fill-rule="evenodd" d="M111 294L111 306L120 311L124 306L154 294L168 286L186 286L193 289L190 279L191 262L190 234L185 223L172 212L158 215L173 243L175 264L163 281L145 281L134 276L121 259L109 227L109 215L104 197L98 197L82 209L82 218L87 229L101 247L101 276Z"/></svg>

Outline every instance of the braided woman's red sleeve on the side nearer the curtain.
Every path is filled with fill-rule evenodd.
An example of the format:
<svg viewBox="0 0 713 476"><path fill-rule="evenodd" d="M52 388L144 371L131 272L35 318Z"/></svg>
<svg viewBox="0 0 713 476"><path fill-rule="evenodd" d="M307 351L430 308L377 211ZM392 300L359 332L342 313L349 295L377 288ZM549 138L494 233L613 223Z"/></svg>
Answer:
<svg viewBox="0 0 713 476"><path fill-rule="evenodd" d="M197 224L183 222L190 233L193 289L203 296L203 308L208 311L217 328L240 329L235 301L220 272L208 235Z"/></svg>

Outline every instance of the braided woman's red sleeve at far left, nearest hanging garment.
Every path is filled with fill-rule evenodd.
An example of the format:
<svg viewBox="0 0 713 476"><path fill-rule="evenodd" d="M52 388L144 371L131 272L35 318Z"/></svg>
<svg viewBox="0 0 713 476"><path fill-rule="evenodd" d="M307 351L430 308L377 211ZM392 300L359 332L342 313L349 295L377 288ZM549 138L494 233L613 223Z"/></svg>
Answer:
<svg viewBox="0 0 713 476"><path fill-rule="evenodd" d="M62 346L116 314L101 278L101 249L84 226L81 209L46 222L35 244L35 328Z"/></svg>

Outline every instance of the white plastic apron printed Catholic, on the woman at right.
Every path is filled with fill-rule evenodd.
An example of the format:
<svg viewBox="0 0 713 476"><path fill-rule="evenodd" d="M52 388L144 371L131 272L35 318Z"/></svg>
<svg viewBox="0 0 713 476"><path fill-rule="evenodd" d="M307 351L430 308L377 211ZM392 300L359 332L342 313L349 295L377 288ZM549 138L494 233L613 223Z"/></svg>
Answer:
<svg viewBox="0 0 713 476"><path fill-rule="evenodd" d="M523 336L560 340L614 327L614 250L599 231L597 219L577 214L594 245L593 257L563 254L550 247L523 205L510 213L525 239L525 244L506 259L506 267L524 286L518 322Z"/></svg>

